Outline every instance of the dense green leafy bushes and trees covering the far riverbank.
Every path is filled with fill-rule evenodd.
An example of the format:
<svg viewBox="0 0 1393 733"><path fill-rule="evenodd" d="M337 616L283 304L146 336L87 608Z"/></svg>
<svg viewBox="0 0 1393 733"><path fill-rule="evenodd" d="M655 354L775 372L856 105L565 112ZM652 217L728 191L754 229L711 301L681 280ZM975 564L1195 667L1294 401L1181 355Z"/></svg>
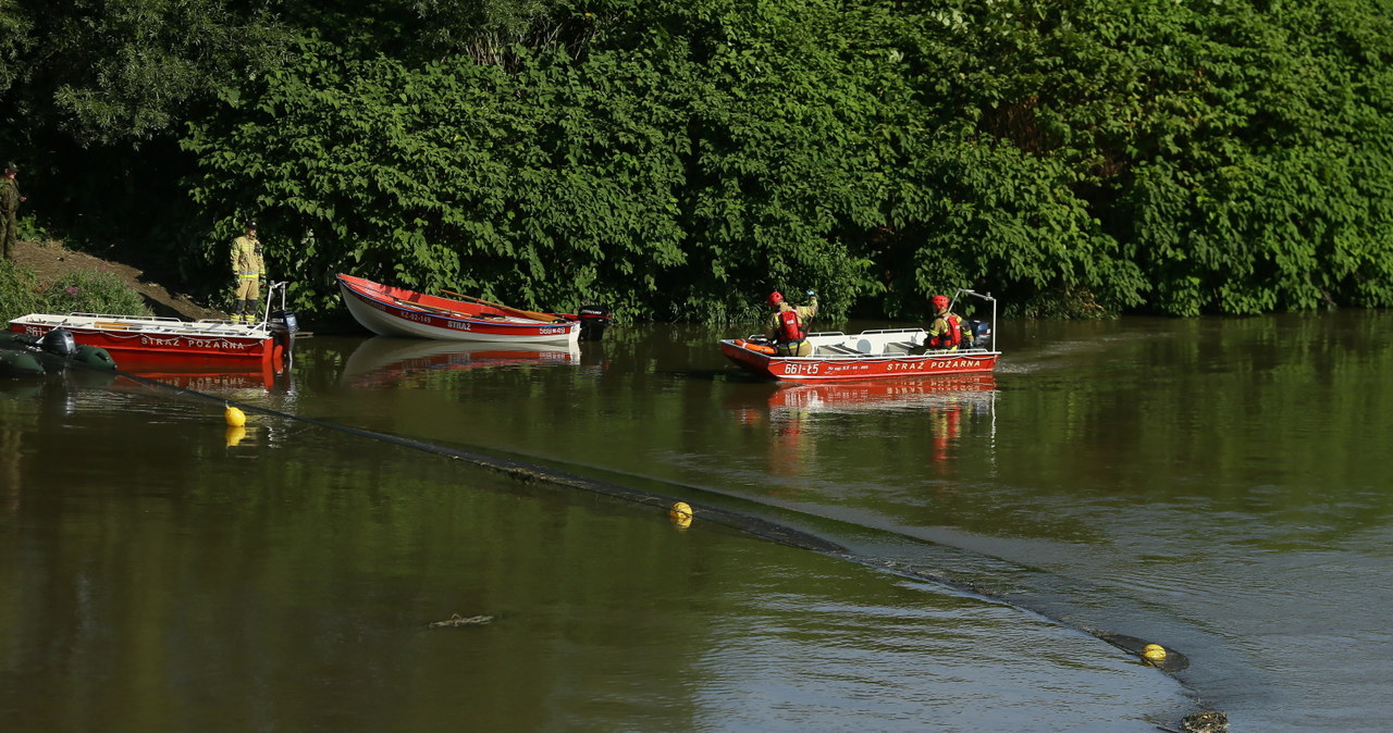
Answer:
<svg viewBox="0 0 1393 733"><path fill-rule="evenodd" d="M1393 305L1386 1L17 0L25 238L741 321Z"/></svg>

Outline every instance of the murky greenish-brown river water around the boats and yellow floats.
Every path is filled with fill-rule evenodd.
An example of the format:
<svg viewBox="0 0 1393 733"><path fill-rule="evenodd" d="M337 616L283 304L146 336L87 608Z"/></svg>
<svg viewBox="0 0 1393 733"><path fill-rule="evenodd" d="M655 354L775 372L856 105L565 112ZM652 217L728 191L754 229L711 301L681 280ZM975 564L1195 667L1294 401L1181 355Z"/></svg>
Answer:
<svg viewBox="0 0 1393 733"><path fill-rule="evenodd" d="M667 325L4 380L0 729L1385 730L1390 327L1003 323L992 378L841 387Z"/></svg>

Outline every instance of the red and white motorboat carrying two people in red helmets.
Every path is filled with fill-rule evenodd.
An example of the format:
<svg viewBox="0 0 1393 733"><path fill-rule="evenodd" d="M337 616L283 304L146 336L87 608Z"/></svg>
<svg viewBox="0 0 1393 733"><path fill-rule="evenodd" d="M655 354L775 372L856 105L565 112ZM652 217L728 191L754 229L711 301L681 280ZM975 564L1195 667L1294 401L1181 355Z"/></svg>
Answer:
<svg viewBox="0 0 1393 733"><path fill-rule="evenodd" d="M992 373L1002 356L1002 352L992 349L990 335L990 323L996 320L996 299L958 291L958 295L964 293L992 302L992 321L972 321L976 342L971 349L929 349L924 328L880 328L859 334L808 334L808 344L812 345L808 356L779 356L763 337L722 339L720 352L747 371L797 382Z"/></svg>

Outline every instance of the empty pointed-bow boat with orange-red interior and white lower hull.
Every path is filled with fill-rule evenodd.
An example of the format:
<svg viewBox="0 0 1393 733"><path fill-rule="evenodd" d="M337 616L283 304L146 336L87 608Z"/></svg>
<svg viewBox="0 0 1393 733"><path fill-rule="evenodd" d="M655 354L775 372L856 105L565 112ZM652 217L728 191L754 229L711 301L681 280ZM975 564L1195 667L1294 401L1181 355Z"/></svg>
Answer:
<svg viewBox="0 0 1393 733"><path fill-rule="evenodd" d="M575 345L585 320L585 313L538 313L478 299L454 300L344 274L338 275L338 292L364 328L386 337Z"/></svg>

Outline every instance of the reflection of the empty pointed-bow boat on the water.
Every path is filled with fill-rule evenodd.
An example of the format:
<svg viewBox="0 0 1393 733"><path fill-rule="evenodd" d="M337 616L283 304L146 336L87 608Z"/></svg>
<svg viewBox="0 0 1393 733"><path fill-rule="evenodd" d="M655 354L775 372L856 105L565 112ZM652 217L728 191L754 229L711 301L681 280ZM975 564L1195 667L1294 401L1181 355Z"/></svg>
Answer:
<svg viewBox="0 0 1393 733"><path fill-rule="evenodd" d="M439 341L372 337L358 345L344 364L348 387L400 384L442 370L578 366L575 344Z"/></svg>

